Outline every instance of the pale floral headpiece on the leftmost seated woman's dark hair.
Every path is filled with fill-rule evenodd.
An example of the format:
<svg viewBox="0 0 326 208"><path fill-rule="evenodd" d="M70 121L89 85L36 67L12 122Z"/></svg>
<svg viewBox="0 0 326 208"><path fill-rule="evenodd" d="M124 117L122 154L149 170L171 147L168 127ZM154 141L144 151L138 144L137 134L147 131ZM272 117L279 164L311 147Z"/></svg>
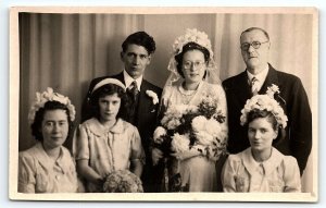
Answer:
<svg viewBox="0 0 326 208"><path fill-rule="evenodd" d="M59 101L66 106L70 111L71 121L75 120L75 107L71 103L68 97L65 97L61 94L54 93L51 87L48 87L43 93L36 93L35 101L32 105L32 108L28 113L28 122L29 124L34 123L35 114L40 109L43 108L47 101Z"/></svg>

